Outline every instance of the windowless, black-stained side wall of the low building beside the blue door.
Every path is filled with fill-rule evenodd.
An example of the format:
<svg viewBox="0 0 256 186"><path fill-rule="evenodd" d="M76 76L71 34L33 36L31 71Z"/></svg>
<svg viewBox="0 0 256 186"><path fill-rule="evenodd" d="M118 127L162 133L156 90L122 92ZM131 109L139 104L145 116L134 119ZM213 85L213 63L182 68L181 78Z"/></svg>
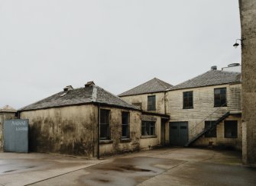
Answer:
<svg viewBox="0 0 256 186"><path fill-rule="evenodd" d="M30 150L96 156L97 107L92 104L21 112L29 120Z"/></svg>

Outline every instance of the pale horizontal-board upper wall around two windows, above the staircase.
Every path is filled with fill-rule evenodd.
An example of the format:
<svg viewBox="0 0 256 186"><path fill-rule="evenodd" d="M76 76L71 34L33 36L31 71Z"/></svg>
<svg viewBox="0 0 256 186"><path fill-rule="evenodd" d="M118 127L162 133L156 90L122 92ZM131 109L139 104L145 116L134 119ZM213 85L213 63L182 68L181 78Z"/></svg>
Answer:
<svg viewBox="0 0 256 186"><path fill-rule="evenodd" d="M227 107L214 107L214 88L227 88ZM183 91L193 91L192 109L183 109ZM241 84L214 85L202 88L186 88L168 91L167 100L167 113L170 114L170 122L188 121L189 138L191 139L196 134L191 131L193 127L198 124L198 129L204 128L204 120L218 120L219 117L222 117L227 111L241 113ZM221 129L221 127L219 129ZM169 130L169 128L167 130ZM219 132L221 131L222 130L219 130ZM204 138L204 136L201 138ZM223 139L215 139L215 141L216 140L219 141L219 144L225 141ZM230 140L236 141L236 139ZM241 138L238 138L238 140L241 140ZM208 139L201 139L200 145L207 146ZM239 149L239 145L237 147Z"/></svg>

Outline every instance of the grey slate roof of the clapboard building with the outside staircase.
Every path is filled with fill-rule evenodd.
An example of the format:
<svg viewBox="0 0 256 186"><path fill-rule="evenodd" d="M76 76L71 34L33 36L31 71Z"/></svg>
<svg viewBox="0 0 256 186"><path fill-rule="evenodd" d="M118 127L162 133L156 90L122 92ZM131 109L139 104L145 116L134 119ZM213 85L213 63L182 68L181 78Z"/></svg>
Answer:
<svg viewBox="0 0 256 186"><path fill-rule="evenodd" d="M241 82L240 72L227 72L221 70L210 70L202 75L198 75L193 79L189 79L186 82L182 82L179 85L175 85L170 90L184 89L184 88L196 88L209 85L222 85L229 83Z"/></svg>

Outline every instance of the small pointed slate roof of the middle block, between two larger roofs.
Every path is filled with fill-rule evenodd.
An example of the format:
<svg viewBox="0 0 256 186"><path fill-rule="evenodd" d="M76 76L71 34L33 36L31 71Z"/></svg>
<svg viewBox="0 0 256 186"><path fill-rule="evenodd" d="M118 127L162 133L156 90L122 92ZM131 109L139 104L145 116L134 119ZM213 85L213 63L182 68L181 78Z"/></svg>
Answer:
<svg viewBox="0 0 256 186"><path fill-rule="evenodd" d="M122 94L118 95L120 97L127 95L142 95L147 93L154 93L160 91L167 91L168 88L172 87L167 82L164 82L160 79L154 78L148 82L145 82L137 87L131 88L131 90L125 91Z"/></svg>

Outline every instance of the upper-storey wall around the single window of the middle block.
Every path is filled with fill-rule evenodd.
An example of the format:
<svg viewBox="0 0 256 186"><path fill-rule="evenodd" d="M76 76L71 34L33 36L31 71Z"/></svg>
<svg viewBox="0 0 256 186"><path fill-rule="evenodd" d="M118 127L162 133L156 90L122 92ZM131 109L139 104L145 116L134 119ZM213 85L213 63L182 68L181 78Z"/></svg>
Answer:
<svg viewBox="0 0 256 186"><path fill-rule="evenodd" d="M148 111L152 113L165 114L165 101L164 101L164 92L144 94L144 95L129 95L125 97L120 97L124 101L130 104L141 103L142 111L147 111L147 96L155 95L156 96L156 111Z"/></svg>

